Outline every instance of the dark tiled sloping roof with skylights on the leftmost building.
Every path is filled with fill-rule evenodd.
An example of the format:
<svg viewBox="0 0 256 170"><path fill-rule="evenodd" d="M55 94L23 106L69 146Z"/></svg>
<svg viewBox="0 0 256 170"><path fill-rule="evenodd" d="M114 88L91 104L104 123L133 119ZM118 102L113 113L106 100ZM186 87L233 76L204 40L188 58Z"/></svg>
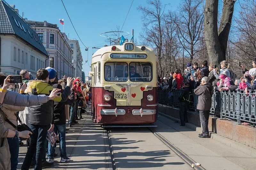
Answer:
<svg viewBox="0 0 256 170"><path fill-rule="evenodd" d="M4 0L0 0L0 34L17 35L22 40L48 56L37 33L20 17L20 15Z"/></svg>

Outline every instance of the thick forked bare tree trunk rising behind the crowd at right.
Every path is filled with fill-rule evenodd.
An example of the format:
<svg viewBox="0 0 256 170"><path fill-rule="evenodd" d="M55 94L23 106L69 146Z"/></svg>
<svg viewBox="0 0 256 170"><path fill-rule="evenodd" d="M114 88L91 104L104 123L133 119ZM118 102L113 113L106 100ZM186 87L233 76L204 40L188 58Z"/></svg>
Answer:
<svg viewBox="0 0 256 170"><path fill-rule="evenodd" d="M204 10L204 34L210 63L220 66L226 58L228 35L236 0L223 0L222 15L218 29L219 0L206 0Z"/></svg>

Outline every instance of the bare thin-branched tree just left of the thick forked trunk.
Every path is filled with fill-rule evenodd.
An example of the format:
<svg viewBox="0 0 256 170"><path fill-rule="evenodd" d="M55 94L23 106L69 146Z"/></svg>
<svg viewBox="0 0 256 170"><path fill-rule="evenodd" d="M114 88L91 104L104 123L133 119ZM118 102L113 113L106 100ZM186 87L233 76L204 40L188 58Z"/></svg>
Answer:
<svg viewBox="0 0 256 170"><path fill-rule="evenodd" d="M180 19L176 20L179 41L192 62L196 45L201 39L204 23L202 0L182 0L179 7Z"/></svg>

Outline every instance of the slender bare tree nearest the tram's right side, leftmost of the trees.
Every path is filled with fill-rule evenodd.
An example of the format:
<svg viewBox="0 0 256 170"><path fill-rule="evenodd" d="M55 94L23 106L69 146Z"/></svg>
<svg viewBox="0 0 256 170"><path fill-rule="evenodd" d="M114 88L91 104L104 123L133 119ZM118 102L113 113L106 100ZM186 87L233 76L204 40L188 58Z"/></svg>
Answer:
<svg viewBox="0 0 256 170"><path fill-rule="evenodd" d="M159 75L162 77L162 48L163 48L163 30L162 20L164 14L164 6L160 0L149 0L150 7L139 6L138 9L143 13L143 28L144 33L140 33L140 37L149 43L151 46L156 47L156 53L159 62Z"/></svg>

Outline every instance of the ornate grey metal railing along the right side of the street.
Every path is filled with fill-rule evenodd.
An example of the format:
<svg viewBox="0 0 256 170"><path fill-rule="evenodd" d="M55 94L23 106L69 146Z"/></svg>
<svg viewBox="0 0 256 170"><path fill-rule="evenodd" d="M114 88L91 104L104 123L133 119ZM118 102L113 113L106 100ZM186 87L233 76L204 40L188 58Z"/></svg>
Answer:
<svg viewBox="0 0 256 170"><path fill-rule="evenodd" d="M179 95L181 90L158 91L159 104L179 108ZM256 124L256 91L214 91L210 113L220 118L229 118L237 122L250 122ZM189 105L190 110L196 110L198 96L193 93L194 103Z"/></svg>

